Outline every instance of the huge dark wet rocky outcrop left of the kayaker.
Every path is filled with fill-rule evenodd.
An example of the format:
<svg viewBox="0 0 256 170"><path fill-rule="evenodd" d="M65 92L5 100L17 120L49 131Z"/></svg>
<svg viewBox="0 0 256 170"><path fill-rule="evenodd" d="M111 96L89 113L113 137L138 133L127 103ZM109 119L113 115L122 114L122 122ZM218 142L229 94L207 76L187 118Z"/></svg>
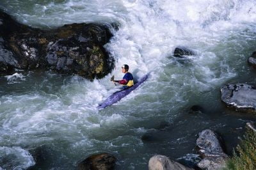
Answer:
<svg viewBox="0 0 256 170"><path fill-rule="evenodd" d="M113 36L110 24L41 30L19 24L4 12L0 12L0 20L0 72L48 68L94 79L113 68L113 58L103 47Z"/></svg>

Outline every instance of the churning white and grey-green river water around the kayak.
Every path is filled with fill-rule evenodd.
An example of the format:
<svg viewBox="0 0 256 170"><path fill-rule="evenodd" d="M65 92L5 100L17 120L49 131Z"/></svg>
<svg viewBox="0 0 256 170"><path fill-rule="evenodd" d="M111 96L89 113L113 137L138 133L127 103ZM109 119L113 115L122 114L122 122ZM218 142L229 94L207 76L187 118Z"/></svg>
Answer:
<svg viewBox="0 0 256 170"><path fill-rule="evenodd" d="M220 86L255 83L255 70L247 65L256 43L255 3L1 1L0 8L33 27L118 22L120 29L105 45L116 68L104 79L23 70L0 77L0 169L26 169L35 162L35 169L76 169L77 162L99 152L115 155L116 169L147 169L156 153L193 164L196 134L204 128L222 134L231 153L240 127L253 118L226 110ZM196 55L174 58L179 46ZM149 79L117 104L97 110L115 91L109 79L122 78L123 64L136 79L150 72ZM192 105L204 112L189 114Z"/></svg>

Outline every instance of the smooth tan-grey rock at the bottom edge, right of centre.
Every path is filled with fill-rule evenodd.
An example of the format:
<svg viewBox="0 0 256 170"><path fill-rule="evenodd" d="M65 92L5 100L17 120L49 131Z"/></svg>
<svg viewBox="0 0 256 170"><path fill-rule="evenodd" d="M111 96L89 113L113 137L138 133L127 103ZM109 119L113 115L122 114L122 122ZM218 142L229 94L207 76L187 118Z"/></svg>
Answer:
<svg viewBox="0 0 256 170"><path fill-rule="evenodd" d="M189 170L191 168L171 160L163 155L154 155L148 162L148 170Z"/></svg>

